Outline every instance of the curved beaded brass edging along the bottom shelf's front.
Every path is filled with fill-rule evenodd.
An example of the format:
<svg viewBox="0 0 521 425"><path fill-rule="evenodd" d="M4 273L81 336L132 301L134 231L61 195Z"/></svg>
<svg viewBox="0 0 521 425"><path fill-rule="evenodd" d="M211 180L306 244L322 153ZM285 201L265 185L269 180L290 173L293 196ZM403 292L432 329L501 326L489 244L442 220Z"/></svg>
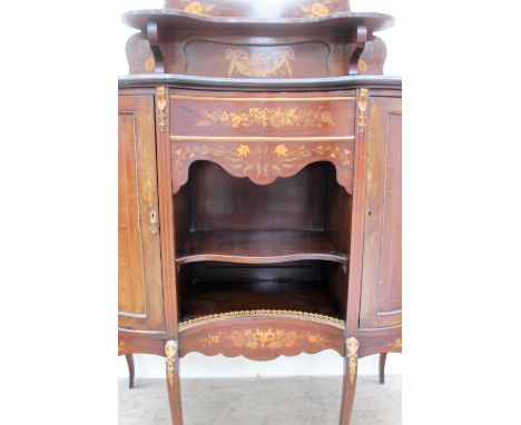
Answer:
<svg viewBox="0 0 521 425"><path fill-rule="evenodd" d="M321 323L324 325L334 326L338 329L345 328L344 320L330 317L330 316L320 315L316 313L304 313L304 312L293 312L293 310L244 310L244 312L229 312L229 313L203 316L203 317L197 317L195 319L181 322L179 323L179 332L187 330L193 327L205 325L212 322L220 322L220 320L226 320L230 318L256 317L256 316L305 319L305 320Z"/></svg>

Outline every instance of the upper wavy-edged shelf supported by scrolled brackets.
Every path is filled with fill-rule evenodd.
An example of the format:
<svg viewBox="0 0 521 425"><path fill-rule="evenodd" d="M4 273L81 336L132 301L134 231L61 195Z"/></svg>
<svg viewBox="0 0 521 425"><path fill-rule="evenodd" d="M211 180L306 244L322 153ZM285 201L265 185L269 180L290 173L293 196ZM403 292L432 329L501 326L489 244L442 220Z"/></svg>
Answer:
<svg viewBox="0 0 521 425"><path fill-rule="evenodd" d="M381 31L394 24L394 18L384 13L337 12L318 18L227 18L194 14L175 9L132 10L122 14L124 23L146 31L149 22L177 30L283 30L327 31L350 30L365 24L367 31Z"/></svg>

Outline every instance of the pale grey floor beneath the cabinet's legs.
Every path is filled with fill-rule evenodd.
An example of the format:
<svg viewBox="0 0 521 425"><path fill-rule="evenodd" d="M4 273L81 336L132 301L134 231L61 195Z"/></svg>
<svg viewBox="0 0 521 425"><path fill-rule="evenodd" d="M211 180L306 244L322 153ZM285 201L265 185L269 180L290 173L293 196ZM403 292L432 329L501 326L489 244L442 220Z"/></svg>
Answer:
<svg viewBox="0 0 521 425"><path fill-rule="evenodd" d="M183 379L185 425L337 425L340 377ZM352 425L400 425L402 378L361 376ZM171 425L166 384L119 382L119 425Z"/></svg>

